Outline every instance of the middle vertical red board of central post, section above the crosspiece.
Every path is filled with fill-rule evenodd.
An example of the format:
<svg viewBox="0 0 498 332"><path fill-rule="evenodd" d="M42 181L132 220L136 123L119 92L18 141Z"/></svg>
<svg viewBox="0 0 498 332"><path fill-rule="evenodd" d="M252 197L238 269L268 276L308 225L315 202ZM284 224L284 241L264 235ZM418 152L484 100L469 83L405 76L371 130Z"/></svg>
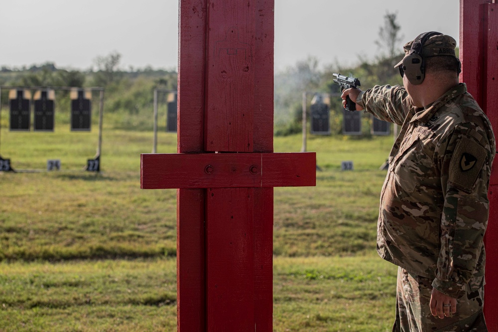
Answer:
<svg viewBox="0 0 498 332"><path fill-rule="evenodd" d="M254 8L254 1L209 0L206 151L253 151Z"/></svg>

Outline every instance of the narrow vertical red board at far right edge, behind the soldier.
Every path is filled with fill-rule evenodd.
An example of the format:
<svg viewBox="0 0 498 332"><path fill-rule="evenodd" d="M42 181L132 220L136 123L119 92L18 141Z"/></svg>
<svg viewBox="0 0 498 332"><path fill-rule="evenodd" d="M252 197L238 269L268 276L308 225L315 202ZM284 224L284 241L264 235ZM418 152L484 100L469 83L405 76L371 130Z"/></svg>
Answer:
<svg viewBox="0 0 498 332"><path fill-rule="evenodd" d="M493 128L498 130L498 3L483 5L487 21L484 51L483 109ZM498 160L495 161L495 165ZM496 167L492 170L496 173ZM498 182L492 174L490 186L490 218L486 230L486 288L484 314L489 331L498 331Z"/></svg>

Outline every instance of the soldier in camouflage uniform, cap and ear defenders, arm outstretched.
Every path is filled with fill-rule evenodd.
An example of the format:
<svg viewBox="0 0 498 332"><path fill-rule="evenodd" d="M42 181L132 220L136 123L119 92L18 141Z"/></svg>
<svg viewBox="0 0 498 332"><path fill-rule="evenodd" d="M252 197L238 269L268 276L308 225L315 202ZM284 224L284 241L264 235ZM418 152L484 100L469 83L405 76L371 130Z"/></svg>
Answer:
<svg viewBox="0 0 498 332"><path fill-rule="evenodd" d="M392 331L488 331L483 315L489 119L458 81L455 39L426 32L395 66L403 86L347 89L356 110L401 126L380 196L377 252L398 265Z"/></svg>

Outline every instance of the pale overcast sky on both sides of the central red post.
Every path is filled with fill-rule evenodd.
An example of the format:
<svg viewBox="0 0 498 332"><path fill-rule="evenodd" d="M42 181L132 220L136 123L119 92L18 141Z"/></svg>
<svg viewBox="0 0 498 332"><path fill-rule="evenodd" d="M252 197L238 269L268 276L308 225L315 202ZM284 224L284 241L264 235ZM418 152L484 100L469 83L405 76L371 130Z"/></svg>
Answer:
<svg viewBox="0 0 498 332"><path fill-rule="evenodd" d="M346 65L378 55L387 11L397 13L400 49L432 30L459 42L458 0L275 0L276 70L308 56ZM1 0L0 36L0 66L89 69L117 51L124 69L176 69L178 0Z"/></svg>

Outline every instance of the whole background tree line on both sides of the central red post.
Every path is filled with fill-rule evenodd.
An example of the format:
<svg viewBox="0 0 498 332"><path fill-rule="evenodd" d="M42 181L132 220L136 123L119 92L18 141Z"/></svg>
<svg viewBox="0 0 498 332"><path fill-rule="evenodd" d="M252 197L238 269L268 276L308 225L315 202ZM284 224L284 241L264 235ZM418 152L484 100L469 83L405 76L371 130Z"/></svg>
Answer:
<svg viewBox="0 0 498 332"><path fill-rule="evenodd" d="M319 61L310 56L296 62L294 66L276 72L274 77L275 134L287 135L302 130L303 92L327 93L332 96L340 93L339 86L333 83L333 73L359 78L362 89L373 87L374 84L402 84L401 77L393 69L394 64L403 55L398 46L401 39L396 13L386 12L384 24L379 27L376 40L379 53L373 59L359 57L355 66L342 66L338 63L320 66ZM123 70L120 65L121 57L121 54L116 51L107 56L98 56L94 60L95 67L88 71L60 69L50 62L21 69L3 66L0 70L0 85L104 87L105 112L108 114L107 117L111 118L114 127L152 130L153 91L156 88L175 90L177 72L150 67ZM167 96L160 95L159 97L159 102L165 105ZM8 103L7 94L2 94L1 102L3 105ZM66 104L68 105L69 102L63 100L62 105ZM332 133L339 134L342 129L340 98L331 98L330 106Z"/></svg>

